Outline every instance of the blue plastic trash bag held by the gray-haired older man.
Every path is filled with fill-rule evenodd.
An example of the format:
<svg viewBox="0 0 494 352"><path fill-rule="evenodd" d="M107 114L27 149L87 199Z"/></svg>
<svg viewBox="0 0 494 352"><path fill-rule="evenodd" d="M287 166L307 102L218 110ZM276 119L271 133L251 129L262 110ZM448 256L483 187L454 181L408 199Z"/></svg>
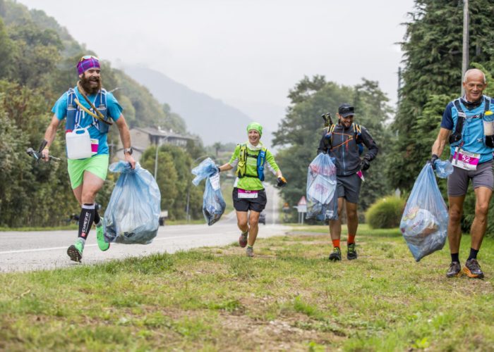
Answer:
<svg viewBox="0 0 494 352"><path fill-rule="evenodd" d="M429 163L411 190L399 224L416 261L442 249L447 238L447 207Z"/></svg>

